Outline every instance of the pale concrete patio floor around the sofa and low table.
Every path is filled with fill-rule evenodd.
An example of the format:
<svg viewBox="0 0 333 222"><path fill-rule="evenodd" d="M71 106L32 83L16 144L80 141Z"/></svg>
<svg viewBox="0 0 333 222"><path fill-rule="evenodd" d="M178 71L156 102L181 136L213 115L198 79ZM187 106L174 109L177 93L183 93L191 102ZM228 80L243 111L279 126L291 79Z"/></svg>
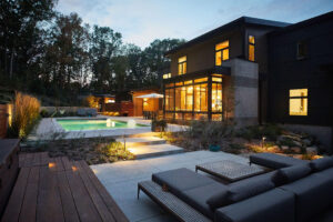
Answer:
<svg viewBox="0 0 333 222"><path fill-rule="evenodd" d="M155 172L178 168L188 168L194 171L195 164L219 160L249 162L245 158L230 153L195 151L160 158L91 165L91 169L130 221L167 222L175 220L144 193L141 193L140 199L137 200L138 182L151 180L151 174Z"/></svg>

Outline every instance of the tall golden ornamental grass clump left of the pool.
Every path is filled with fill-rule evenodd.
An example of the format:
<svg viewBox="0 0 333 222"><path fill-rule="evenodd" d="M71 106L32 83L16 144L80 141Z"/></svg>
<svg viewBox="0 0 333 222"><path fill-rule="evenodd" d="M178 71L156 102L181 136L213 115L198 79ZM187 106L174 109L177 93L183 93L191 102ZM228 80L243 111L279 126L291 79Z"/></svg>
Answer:
<svg viewBox="0 0 333 222"><path fill-rule="evenodd" d="M40 102L34 97L18 92L14 101L14 113L10 132L13 137L24 138L39 118Z"/></svg>

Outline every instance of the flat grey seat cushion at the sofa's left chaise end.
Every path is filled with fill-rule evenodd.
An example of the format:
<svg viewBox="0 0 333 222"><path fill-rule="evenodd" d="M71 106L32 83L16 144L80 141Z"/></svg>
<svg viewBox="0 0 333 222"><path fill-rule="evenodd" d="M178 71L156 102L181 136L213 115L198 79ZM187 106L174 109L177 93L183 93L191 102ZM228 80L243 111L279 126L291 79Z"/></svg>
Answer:
<svg viewBox="0 0 333 222"><path fill-rule="evenodd" d="M180 192L193 188L219 183L213 179L195 173L185 168L153 173L152 180L160 185L165 185L167 189L174 194L180 194Z"/></svg>

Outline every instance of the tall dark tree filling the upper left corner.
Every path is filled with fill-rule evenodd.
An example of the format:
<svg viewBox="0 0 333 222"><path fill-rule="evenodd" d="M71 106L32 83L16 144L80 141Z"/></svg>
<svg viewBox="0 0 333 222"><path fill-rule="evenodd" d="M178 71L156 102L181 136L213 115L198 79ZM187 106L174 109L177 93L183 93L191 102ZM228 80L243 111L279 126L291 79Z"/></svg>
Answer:
<svg viewBox="0 0 333 222"><path fill-rule="evenodd" d="M43 22L54 16L56 0L0 1L0 73L12 80L33 74L43 42ZM26 82L24 82L26 84Z"/></svg>

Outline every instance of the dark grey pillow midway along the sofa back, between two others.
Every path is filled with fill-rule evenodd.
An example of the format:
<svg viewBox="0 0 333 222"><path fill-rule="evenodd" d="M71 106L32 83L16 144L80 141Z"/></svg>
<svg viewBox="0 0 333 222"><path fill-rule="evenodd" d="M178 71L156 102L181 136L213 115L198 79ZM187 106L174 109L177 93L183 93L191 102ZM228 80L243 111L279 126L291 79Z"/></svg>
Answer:
<svg viewBox="0 0 333 222"><path fill-rule="evenodd" d="M309 164L293 165L278 170L276 173L273 175L272 181L276 186L280 186L304 178L310 173L311 168Z"/></svg>

